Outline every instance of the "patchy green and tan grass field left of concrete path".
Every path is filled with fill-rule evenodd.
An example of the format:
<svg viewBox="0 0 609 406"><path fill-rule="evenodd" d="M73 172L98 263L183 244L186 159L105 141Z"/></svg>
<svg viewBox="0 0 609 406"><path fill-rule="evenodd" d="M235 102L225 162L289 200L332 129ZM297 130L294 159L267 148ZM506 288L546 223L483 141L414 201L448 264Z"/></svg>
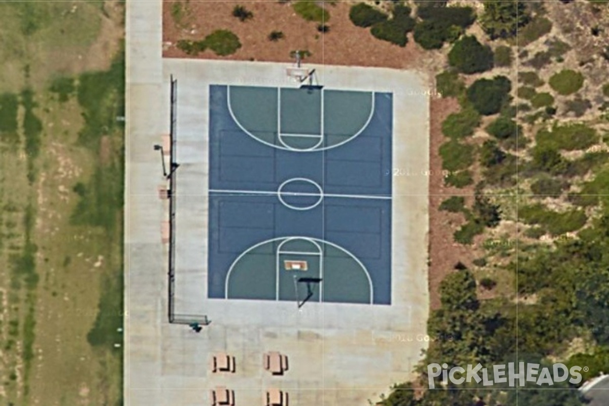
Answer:
<svg viewBox="0 0 609 406"><path fill-rule="evenodd" d="M91 51L113 24L116 2L0 4L2 405L122 404L124 58Z"/></svg>

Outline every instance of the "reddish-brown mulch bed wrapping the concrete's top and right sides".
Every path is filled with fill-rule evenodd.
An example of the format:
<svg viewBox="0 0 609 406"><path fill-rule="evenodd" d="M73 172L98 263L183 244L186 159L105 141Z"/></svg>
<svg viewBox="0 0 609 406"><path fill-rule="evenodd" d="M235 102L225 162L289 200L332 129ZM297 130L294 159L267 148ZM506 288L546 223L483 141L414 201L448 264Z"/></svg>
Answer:
<svg viewBox="0 0 609 406"><path fill-rule="evenodd" d="M163 4L163 57L166 58L195 58L177 49L175 43L181 39L201 40L214 30L230 29L238 35L242 43L241 49L228 57L218 57L211 51L205 51L196 58L291 63L293 60L290 51L306 49L312 55L305 62L417 69L428 72L430 80L433 80L445 61L445 55L425 52L415 46L412 37L404 48L376 40L370 30L351 23L348 18L351 3L347 1L326 6L330 15L326 24L330 30L325 34L317 32L317 23L304 21L298 16L289 3L188 2L189 17L183 19L181 27L176 26L171 16L172 3L173 1L166 0ZM244 5L250 10L253 19L242 23L234 18L231 13L236 4ZM276 42L269 41L267 36L273 30L283 32L284 38ZM432 98L430 101L429 290L431 308L435 309L440 304L440 281L458 261L471 266L471 260L476 257L473 249L476 245L463 247L454 243L452 233L464 223L463 216L438 211L442 200L451 195L473 194L473 186L456 189L444 185L442 159L438 155L438 148L445 141L442 121L448 114L459 110L459 105L454 99ZM471 196L466 197L467 203L471 203L471 200Z"/></svg>

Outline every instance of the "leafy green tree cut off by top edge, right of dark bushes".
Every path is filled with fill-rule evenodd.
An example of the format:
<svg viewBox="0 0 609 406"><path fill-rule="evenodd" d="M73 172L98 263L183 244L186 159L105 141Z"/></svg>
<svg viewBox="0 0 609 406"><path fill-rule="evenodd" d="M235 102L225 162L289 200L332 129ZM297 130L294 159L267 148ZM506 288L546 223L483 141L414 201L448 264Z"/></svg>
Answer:
<svg viewBox="0 0 609 406"><path fill-rule="evenodd" d="M519 27L530 21L524 2L518 0L487 0L484 2L484 13L481 26L491 38L515 37Z"/></svg>

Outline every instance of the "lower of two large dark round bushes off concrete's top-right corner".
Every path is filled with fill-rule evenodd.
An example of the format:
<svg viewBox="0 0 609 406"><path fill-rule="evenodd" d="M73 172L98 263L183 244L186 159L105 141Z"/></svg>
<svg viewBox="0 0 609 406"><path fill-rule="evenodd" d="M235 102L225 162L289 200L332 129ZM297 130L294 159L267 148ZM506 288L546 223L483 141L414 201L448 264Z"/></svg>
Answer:
<svg viewBox="0 0 609 406"><path fill-rule="evenodd" d="M478 79L467 89L467 98L485 116L499 113L509 100L512 83L505 76Z"/></svg>

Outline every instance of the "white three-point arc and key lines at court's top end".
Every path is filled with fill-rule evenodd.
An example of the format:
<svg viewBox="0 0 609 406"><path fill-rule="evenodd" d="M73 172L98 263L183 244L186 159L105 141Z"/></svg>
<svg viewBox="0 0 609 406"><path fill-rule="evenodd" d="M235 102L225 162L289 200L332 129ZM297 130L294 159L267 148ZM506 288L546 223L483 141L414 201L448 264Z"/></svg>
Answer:
<svg viewBox="0 0 609 406"><path fill-rule="evenodd" d="M255 141L260 142L261 144L267 145L268 147L281 149L281 150L285 150L285 151L290 151L290 152L320 152L320 151L325 151L325 150L333 149L336 147L340 147L341 145L352 141L354 138L357 138L357 136L359 136L362 132L364 132L364 130L368 127L368 125L370 125L370 121L372 121L372 117L374 116L375 108L376 108L376 103L375 103L376 91L370 91L370 96L371 96L370 113L368 113L368 119L366 120L364 125L362 125L362 127L359 128L359 130L356 131L356 133L348 136L347 139L345 139L342 142L339 142L338 144L323 146L323 142L324 142L325 138L327 137L327 135L325 134L325 128L322 127L322 134L320 134L320 135L311 134L311 136L319 136L320 142L318 142L317 144L315 144L313 147L310 147L310 148L296 149L294 147L290 147L281 139L281 137L284 136L284 134L281 133L281 89L291 89L291 88L281 88L281 87L276 88L277 89L277 128L276 128L275 134L277 135L277 139L279 140L279 142L283 145L282 146L282 145L271 144L270 142L267 142L267 141L264 141L264 140L258 138L257 136L253 135L249 130L247 130L247 128L245 128L244 125L241 124L241 122L239 122L239 120L237 119L237 117L235 116L234 111L233 111L233 106L231 104L231 93L230 93L231 87L238 87L238 86L233 86L233 85L226 85L226 86L227 86L228 113L230 114L231 119L233 119L233 122L237 125L237 127L239 127L241 129L241 131L243 131L248 136L252 137ZM260 86L253 86L253 87L260 87ZM326 91L326 89L321 90L321 94L322 94L321 100L322 101L320 104L322 107L322 116L320 117L320 123L322 126L325 126L324 111L323 111L323 108L325 106L325 104L323 102L323 100L325 98L325 96L324 96L325 91ZM356 92L356 91L351 91L351 92ZM286 133L286 134L288 134L288 136L299 136L299 135L294 135L294 133ZM322 147L317 148L317 147L319 147L319 145L322 145Z"/></svg>

